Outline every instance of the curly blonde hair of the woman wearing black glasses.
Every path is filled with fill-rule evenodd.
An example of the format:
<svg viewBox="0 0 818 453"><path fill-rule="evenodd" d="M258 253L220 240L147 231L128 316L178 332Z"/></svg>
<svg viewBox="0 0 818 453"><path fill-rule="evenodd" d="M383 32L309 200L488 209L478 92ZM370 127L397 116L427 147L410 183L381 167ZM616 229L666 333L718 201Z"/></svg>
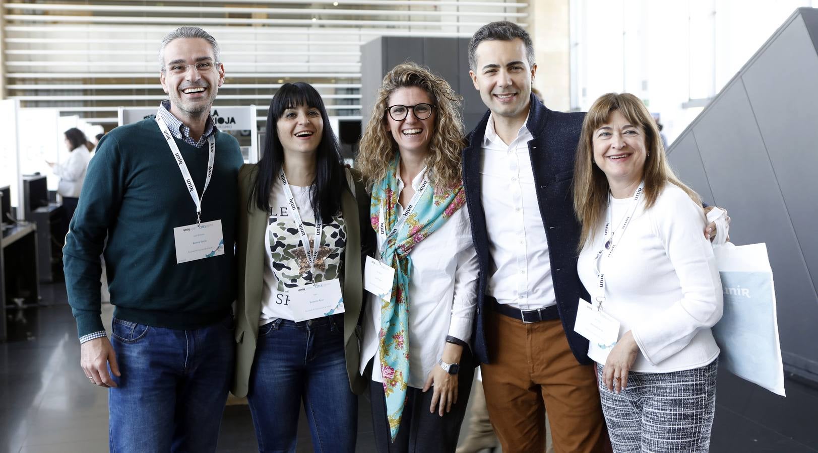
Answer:
<svg viewBox="0 0 818 453"><path fill-rule="evenodd" d="M410 61L398 64L386 74L366 124L356 167L361 170L367 187L386 177L389 165L398 153L398 143L389 131L386 108L389 96L404 87L420 87L435 105L434 135L426 157L432 184L435 187L461 184L461 151L465 146L460 114L462 97L443 78Z"/></svg>

